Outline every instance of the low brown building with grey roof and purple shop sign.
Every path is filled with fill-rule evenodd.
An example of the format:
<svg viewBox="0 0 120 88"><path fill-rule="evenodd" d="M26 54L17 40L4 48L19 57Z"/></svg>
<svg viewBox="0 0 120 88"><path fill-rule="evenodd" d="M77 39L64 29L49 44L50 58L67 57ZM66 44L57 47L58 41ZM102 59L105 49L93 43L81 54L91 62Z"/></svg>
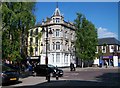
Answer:
<svg viewBox="0 0 120 88"><path fill-rule="evenodd" d="M120 63L120 42L115 38L101 38L98 40L98 46L96 53L99 53L99 57L94 60L94 64L104 66L104 62L107 61L108 65L118 66Z"/></svg>

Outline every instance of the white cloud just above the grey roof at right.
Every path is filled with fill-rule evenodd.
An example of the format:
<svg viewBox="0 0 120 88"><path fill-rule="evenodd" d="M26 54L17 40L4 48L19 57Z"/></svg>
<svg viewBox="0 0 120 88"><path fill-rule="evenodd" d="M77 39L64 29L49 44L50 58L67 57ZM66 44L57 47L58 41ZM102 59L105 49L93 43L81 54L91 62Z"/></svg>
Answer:
<svg viewBox="0 0 120 88"><path fill-rule="evenodd" d="M106 37L115 37L118 38L117 34L110 32L107 28L98 28L98 38L106 38Z"/></svg>

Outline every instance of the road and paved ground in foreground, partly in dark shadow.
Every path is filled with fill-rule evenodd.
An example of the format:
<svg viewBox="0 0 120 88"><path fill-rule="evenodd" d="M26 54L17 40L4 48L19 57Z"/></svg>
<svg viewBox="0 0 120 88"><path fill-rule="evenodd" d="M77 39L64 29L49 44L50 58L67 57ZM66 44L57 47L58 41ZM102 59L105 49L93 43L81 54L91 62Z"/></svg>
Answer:
<svg viewBox="0 0 120 88"><path fill-rule="evenodd" d="M77 68L76 71L69 71L69 69L63 69L64 76L56 80L51 78L51 82L47 82L45 77L33 77L20 79L21 82L8 85L15 88L45 88L45 87L77 87L77 86L118 86L120 83L120 72L118 68L99 68L99 69L81 69ZM3 86L3 88L8 87ZM103 87L102 87L103 88ZM117 87L118 88L118 87Z"/></svg>

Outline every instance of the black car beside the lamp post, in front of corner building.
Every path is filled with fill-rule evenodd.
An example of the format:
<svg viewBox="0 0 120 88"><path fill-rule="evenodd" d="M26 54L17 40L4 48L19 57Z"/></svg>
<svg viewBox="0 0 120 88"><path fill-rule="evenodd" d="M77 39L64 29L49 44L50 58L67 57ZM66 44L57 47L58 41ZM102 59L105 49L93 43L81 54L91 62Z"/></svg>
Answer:
<svg viewBox="0 0 120 88"><path fill-rule="evenodd" d="M46 75L50 74L50 76L55 77L56 72L58 73L57 75L59 77L63 76L63 70L61 70L53 65L50 65L50 64L48 64L48 66L47 65L37 65L34 70L35 70L36 75L39 75L39 76L46 76Z"/></svg>

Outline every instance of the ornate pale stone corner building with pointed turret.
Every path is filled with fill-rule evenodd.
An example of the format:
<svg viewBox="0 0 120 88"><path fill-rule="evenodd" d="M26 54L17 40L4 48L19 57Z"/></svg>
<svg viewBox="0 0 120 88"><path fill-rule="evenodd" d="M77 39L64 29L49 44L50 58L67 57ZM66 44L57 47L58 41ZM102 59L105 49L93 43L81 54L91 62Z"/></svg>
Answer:
<svg viewBox="0 0 120 88"><path fill-rule="evenodd" d="M40 63L45 64L46 57L46 31L48 30L48 64L58 67L70 66L75 63L75 26L64 21L63 15L56 7L51 18L42 21L42 49ZM50 33L50 34L49 34Z"/></svg>

